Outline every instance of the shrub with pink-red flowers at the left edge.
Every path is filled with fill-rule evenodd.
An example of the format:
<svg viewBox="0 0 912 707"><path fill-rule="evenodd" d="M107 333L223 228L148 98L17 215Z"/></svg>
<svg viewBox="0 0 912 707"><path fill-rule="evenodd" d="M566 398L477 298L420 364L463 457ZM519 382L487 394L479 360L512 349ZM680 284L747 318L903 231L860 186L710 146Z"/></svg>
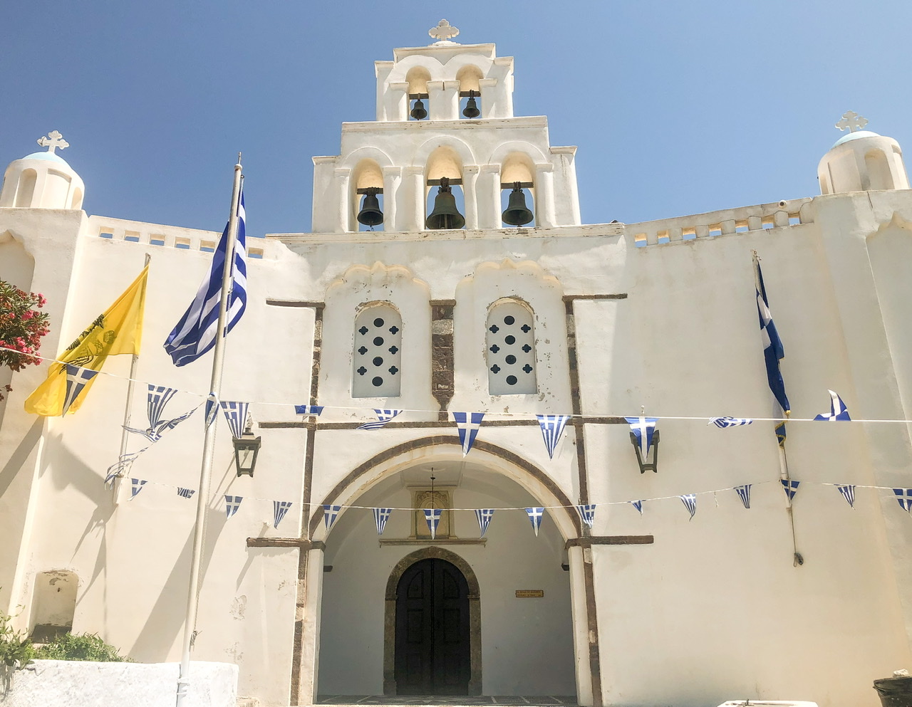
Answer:
<svg viewBox="0 0 912 707"><path fill-rule="evenodd" d="M0 280L0 366L21 371L41 363L35 354L47 334L47 313L41 312L46 303L43 295ZM12 388L0 388L0 400L3 390L8 393Z"/></svg>

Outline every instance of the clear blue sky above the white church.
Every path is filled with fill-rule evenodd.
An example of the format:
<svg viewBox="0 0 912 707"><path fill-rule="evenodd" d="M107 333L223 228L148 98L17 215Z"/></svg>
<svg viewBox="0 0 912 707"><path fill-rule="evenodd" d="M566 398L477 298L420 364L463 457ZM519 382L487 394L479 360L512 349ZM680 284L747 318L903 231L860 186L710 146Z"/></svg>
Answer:
<svg viewBox="0 0 912 707"><path fill-rule="evenodd" d="M85 209L116 218L221 230L242 150L248 233L309 231L311 156L374 118L373 61L429 44L440 17L514 56L516 114L579 147L584 222L813 196L850 108L912 150L908 0L36 0L4 15L0 164L60 130Z"/></svg>

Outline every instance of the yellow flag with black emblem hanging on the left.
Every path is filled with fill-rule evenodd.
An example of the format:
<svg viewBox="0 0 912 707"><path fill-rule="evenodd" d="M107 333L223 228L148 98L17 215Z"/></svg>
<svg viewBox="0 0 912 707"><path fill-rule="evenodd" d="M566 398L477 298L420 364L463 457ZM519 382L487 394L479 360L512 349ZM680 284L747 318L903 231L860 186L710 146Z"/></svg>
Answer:
<svg viewBox="0 0 912 707"><path fill-rule="evenodd" d="M26 399L26 413L46 417L75 413L108 356L140 353L147 265L117 302L98 315L67 351L57 357L47 380Z"/></svg>

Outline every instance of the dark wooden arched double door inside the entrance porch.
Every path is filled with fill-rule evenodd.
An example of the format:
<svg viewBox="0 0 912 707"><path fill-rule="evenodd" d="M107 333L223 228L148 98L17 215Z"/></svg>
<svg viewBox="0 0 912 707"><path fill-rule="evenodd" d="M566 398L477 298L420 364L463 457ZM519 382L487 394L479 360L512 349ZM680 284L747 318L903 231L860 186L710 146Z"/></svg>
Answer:
<svg viewBox="0 0 912 707"><path fill-rule="evenodd" d="M422 559L396 592L396 692L469 694L469 585L443 559Z"/></svg>

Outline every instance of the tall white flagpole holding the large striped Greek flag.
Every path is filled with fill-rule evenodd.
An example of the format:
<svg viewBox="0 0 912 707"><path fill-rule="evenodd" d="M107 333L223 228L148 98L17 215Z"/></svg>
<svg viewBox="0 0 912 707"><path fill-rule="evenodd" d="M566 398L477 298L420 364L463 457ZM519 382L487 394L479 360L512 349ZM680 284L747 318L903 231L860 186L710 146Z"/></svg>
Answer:
<svg viewBox="0 0 912 707"><path fill-rule="evenodd" d="M200 487L196 497L196 522L193 526L193 552L190 561L190 587L187 593L187 615L183 627L181 646L181 674L177 681L177 707L189 704L190 692L190 650L196 635L197 599L202 574L202 540L205 535L206 509L209 502L209 486L212 477L212 457L215 452L215 427L218 420L218 401L222 393L222 369L224 363L225 326L228 319L228 300L231 295L232 267L234 264L234 243L237 241L237 211L241 195L241 153L237 153L234 165L234 184L231 197L231 215L228 217L228 242L225 247L225 261L222 272L222 299L219 302L219 322L212 356L212 379L209 387L210 400L215 405L212 423L206 421L206 433L202 442L202 464L200 466ZM208 411L207 411L208 412Z"/></svg>

